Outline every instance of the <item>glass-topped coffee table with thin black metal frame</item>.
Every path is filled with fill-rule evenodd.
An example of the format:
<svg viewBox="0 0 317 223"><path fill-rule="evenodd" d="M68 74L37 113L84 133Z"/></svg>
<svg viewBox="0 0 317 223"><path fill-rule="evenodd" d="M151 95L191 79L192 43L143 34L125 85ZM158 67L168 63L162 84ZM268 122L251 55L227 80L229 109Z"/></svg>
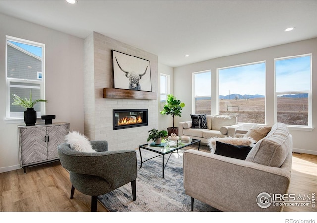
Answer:
<svg viewBox="0 0 317 223"><path fill-rule="evenodd" d="M164 169L167 165L167 162L170 158L170 156L172 155L172 153L174 151L177 151L179 149L182 149L186 146L189 146L189 145L193 145L195 143L198 143L198 150L199 150L199 147L200 147L200 140L199 139L192 139L190 138L189 141L186 141L186 142L183 142L182 140L175 140L175 144L172 145L172 146L166 146L166 144L168 145L170 141L174 141L174 140L163 140L161 145L154 145L152 146L154 143L146 143L146 144L143 144L143 145L140 145L139 146L139 152L140 152L140 158L141 158L141 164L140 164L140 168L142 168L142 163L148 161L148 160L151 160L153 158L156 158L156 157L159 157L159 156L163 156L163 164L162 164L162 167L163 167L163 178L164 178ZM151 145L152 144L152 145ZM164 146L165 145L165 146ZM159 155L157 156L154 156L154 157L151 157L145 161L142 160L142 155L141 155L141 149L144 149L144 150L149 150L149 151L152 151L154 153L158 153ZM183 151L181 151L183 152ZM165 154L170 154L167 161L166 161L166 164L165 164Z"/></svg>

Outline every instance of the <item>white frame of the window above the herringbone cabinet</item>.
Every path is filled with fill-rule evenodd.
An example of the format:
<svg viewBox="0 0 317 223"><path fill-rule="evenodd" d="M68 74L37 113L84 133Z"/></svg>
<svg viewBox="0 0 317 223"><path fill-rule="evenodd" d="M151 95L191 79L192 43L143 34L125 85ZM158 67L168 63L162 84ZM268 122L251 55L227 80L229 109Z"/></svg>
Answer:
<svg viewBox="0 0 317 223"><path fill-rule="evenodd" d="M42 48L42 61L41 61L41 79L21 79L21 78L10 78L8 77L8 41L13 41L17 43L32 45L36 47ZM38 74L39 75L39 74ZM10 94L10 86L11 82L18 82L18 83L29 83L29 84L39 84L40 85L40 98L45 99L45 44L38 43L30 40L25 40L17 37L12 36L5 36L5 82L6 82L6 117L5 121L13 121L15 123L21 122L21 120L24 120L23 112L14 112L18 115L12 115L11 112L11 94ZM32 87L28 87L32 88ZM41 111L37 111L37 118L41 118L41 115L45 115L45 103L40 103Z"/></svg>

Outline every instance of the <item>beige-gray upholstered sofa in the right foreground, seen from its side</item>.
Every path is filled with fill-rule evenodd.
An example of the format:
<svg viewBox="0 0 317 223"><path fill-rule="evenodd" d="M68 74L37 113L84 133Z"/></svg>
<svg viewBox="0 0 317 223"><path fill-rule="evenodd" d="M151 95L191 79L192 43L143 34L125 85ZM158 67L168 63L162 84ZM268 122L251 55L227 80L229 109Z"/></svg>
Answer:
<svg viewBox="0 0 317 223"><path fill-rule="evenodd" d="M221 211L282 211L283 206L263 208L259 194L286 194L292 168L292 136L276 123L259 140L245 160L197 150L184 152L185 193ZM266 199L264 197L264 199Z"/></svg>

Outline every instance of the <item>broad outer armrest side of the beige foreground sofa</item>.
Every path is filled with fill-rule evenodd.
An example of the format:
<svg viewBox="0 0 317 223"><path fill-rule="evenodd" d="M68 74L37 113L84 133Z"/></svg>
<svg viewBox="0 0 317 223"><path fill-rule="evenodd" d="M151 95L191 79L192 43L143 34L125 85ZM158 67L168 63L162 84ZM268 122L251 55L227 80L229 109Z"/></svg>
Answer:
<svg viewBox="0 0 317 223"><path fill-rule="evenodd" d="M282 206L260 208L262 192L287 193L291 170L197 150L184 152L185 193L221 211L281 211Z"/></svg>

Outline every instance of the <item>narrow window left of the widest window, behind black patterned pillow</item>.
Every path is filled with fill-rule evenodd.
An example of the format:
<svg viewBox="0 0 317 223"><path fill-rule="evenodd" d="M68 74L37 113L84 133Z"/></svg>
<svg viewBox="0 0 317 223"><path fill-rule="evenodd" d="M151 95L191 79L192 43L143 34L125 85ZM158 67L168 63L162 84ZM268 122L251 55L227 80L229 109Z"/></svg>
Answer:
<svg viewBox="0 0 317 223"><path fill-rule="evenodd" d="M193 73L194 114L211 114L211 71Z"/></svg>

